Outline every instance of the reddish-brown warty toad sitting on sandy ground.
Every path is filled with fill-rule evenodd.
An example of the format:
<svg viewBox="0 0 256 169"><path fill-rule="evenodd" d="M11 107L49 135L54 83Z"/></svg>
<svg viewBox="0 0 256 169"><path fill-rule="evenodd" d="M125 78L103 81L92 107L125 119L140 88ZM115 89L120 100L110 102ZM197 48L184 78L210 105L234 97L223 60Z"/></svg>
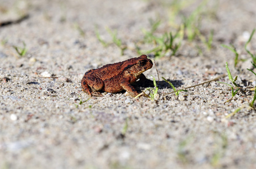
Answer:
<svg viewBox="0 0 256 169"><path fill-rule="evenodd" d="M82 90L89 96L99 96L97 91L110 93L126 90L133 97L138 95L132 83L146 78L142 73L151 69L153 63L146 55L134 57L119 63L107 64L99 69L91 69L81 81Z"/></svg>

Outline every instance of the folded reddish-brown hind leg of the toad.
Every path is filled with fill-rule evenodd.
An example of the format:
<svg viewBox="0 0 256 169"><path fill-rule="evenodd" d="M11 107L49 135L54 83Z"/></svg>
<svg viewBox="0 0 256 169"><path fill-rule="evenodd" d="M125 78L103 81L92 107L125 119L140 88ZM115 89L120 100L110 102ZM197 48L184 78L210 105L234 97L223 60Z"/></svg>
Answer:
<svg viewBox="0 0 256 169"><path fill-rule="evenodd" d="M102 96L99 92L96 92L100 91L104 86L104 83L100 78L94 77L93 75L85 75L81 81L81 84L82 90L89 96Z"/></svg>

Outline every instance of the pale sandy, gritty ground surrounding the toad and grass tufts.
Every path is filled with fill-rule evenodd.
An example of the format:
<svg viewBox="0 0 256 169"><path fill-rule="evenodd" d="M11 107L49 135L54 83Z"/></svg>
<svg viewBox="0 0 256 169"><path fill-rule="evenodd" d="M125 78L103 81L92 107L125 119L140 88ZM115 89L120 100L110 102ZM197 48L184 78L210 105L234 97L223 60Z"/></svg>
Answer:
<svg viewBox="0 0 256 169"><path fill-rule="evenodd" d="M238 91L226 104L230 87L217 82L176 97L160 79L154 101L125 92L87 100L82 92L89 69L139 56L134 44L151 29L149 19L161 20L158 35L175 31L170 23L181 24L200 4L183 1L189 5L172 22L171 2L0 0L2 23L29 14L0 27L0 168L256 168L254 91ZM192 86L227 74L227 61L241 87L255 85L244 50L256 25L255 6L252 0L206 3L200 32L208 37L214 30L212 48L184 38L176 56L155 59L160 78L177 88ZM99 42L96 26L106 42L112 42L106 28L117 30L128 47L123 56L117 46ZM253 54L255 37L248 46ZM21 57L12 46L23 42ZM234 54L221 44L233 44L247 61L235 69ZM144 74L157 79L155 67ZM231 84L227 76L220 81Z"/></svg>

